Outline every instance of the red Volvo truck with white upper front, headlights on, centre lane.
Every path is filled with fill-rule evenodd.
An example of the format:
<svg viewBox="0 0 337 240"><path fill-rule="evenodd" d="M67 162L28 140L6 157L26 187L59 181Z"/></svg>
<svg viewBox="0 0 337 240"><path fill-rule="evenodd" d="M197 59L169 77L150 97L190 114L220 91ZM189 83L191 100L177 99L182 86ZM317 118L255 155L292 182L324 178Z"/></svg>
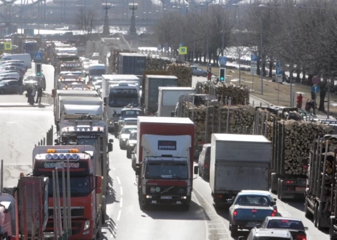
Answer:
<svg viewBox="0 0 337 240"><path fill-rule="evenodd" d="M180 205L189 209L193 167L194 123L188 118L138 117L138 197L148 205Z"/></svg>

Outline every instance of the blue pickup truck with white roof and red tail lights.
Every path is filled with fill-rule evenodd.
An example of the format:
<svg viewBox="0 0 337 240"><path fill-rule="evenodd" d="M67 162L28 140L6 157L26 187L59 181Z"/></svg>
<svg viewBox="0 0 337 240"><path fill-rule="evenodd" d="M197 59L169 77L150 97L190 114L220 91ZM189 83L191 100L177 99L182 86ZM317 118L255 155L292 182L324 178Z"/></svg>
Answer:
<svg viewBox="0 0 337 240"><path fill-rule="evenodd" d="M237 235L238 229L252 229L261 224L267 216L276 216L276 199L268 191L244 190L237 194L229 208L229 230L231 236Z"/></svg>

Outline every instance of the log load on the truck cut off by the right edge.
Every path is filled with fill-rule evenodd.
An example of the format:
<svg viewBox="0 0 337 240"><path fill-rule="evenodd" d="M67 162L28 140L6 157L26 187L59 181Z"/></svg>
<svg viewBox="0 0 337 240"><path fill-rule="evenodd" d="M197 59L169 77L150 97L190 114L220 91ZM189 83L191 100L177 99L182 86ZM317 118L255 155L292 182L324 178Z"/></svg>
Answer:
<svg viewBox="0 0 337 240"><path fill-rule="evenodd" d="M312 144L311 151L311 165L312 167L316 166L316 161L319 161L319 177L324 176L324 179L318 179L317 182L319 185L317 188L323 190L323 195L327 199L331 196L332 191L332 181L333 181L333 161L334 161L334 149L337 147L337 138L336 136L324 136L322 139L317 139L314 144ZM327 148L327 149L326 149ZM318 150L318 157L317 157ZM326 153L327 152L327 153ZM326 153L326 154L325 154ZM313 159L312 159L313 158ZM325 163L325 166L324 166ZM325 173L323 171L325 170ZM310 171L311 172L311 171ZM316 171L315 171L316 172ZM324 181L324 182L322 182ZM312 181L311 181L312 182ZM314 180L315 182L315 180ZM312 186L311 186L312 187ZM323 189L322 189L323 187ZM320 196L319 196L320 197Z"/></svg>

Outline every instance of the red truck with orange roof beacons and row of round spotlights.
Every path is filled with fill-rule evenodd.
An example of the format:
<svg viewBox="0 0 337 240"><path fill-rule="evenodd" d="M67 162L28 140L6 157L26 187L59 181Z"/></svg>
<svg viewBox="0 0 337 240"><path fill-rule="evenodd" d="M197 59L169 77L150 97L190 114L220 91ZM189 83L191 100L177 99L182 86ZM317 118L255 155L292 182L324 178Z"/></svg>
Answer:
<svg viewBox="0 0 337 240"><path fill-rule="evenodd" d="M37 146L33 150L33 176L58 173L61 212L62 165L70 173L71 239L99 239L102 232L102 174L99 153L93 146ZM58 169L58 171L56 171ZM67 191L67 190L66 190ZM54 232L53 185L49 184L49 219L45 232ZM62 214L61 214L62 215ZM63 220L62 220L63 224Z"/></svg>

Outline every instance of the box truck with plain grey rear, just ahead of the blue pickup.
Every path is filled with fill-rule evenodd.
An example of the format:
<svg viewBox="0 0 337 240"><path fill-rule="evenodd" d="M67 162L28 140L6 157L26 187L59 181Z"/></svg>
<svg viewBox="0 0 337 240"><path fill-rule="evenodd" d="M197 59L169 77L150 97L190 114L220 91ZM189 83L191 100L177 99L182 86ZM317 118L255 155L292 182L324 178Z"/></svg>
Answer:
<svg viewBox="0 0 337 240"><path fill-rule="evenodd" d="M212 134L209 185L215 206L242 190L269 190L271 142L264 136Z"/></svg>

